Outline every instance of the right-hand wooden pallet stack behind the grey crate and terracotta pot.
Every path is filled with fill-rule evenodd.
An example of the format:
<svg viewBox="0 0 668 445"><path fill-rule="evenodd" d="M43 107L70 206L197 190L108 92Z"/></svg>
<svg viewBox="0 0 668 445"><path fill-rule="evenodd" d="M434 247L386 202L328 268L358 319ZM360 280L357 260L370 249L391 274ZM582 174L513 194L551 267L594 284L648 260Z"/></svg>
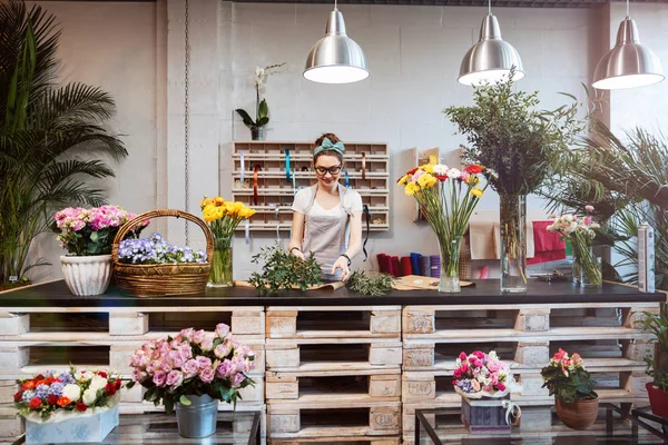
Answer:
<svg viewBox="0 0 668 445"><path fill-rule="evenodd" d="M619 308L619 309L618 309ZM542 388L540 369L563 348L579 353L597 379L602 402L647 402L644 357L650 335L636 324L652 303L487 306L405 306L403 309L403 439L414 443L415 409L458 407L452 386L460 352L497 350L523 385L512 398L523 427L549 428L553 399Z"/></svg>

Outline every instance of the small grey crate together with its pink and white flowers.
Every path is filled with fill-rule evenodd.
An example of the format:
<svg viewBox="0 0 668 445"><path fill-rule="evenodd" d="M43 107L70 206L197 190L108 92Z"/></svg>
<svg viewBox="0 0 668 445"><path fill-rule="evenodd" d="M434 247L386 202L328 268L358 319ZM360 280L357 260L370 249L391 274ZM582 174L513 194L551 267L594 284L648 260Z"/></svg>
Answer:
<svg viewBox="0 0 668 445"><path fill-rule="evenodd" d="M495 352L462 352L455 360L454 390L462 396L462 422L472 433L509 434L519 407L510 393L521 389Z"/></svg>

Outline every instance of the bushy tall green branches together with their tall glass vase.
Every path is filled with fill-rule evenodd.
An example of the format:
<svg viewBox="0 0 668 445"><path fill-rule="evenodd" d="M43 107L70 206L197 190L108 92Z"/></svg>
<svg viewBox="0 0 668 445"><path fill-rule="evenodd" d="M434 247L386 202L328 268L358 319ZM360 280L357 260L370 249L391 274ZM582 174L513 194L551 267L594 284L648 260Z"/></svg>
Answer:
<svg viewBox="0 0 668 445"><path fill-rule="evenodd" d="M527 291L527 202L554 171L562 150L568 150L586 127L589 110L574 96L553 110L540 109L538 91L515 90L514 69L509 78L473 88L474 106L448 107L445 116L466 135L464 160L491 169L492 189L500 197L501 290ZM582 112L581 112L582 111Z"/></svg>

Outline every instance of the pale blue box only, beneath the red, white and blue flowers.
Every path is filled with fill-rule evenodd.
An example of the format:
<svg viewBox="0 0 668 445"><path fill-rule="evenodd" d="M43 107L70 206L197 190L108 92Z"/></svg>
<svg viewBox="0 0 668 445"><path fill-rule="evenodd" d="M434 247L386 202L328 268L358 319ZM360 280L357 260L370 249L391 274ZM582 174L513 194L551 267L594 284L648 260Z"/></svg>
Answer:
<svg viewBox="0 0 668 445"><path fill-rule="evenodd" d="M112 408L68 415L62 421L32 422L26 418L26 443L99 443L118 426L118 405Z"/></svg>

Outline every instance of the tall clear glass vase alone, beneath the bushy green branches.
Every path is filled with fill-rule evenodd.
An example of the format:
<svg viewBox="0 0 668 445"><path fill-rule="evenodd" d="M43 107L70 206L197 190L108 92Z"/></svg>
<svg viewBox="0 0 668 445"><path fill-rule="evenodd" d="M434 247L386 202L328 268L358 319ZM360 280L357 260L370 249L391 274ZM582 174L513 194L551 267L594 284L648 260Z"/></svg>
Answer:
<svg viewBox="0 0 668 445"><path fill-rule="evenodd" d="M527 196L500 195L501 291L527 291Z"/></svg>

